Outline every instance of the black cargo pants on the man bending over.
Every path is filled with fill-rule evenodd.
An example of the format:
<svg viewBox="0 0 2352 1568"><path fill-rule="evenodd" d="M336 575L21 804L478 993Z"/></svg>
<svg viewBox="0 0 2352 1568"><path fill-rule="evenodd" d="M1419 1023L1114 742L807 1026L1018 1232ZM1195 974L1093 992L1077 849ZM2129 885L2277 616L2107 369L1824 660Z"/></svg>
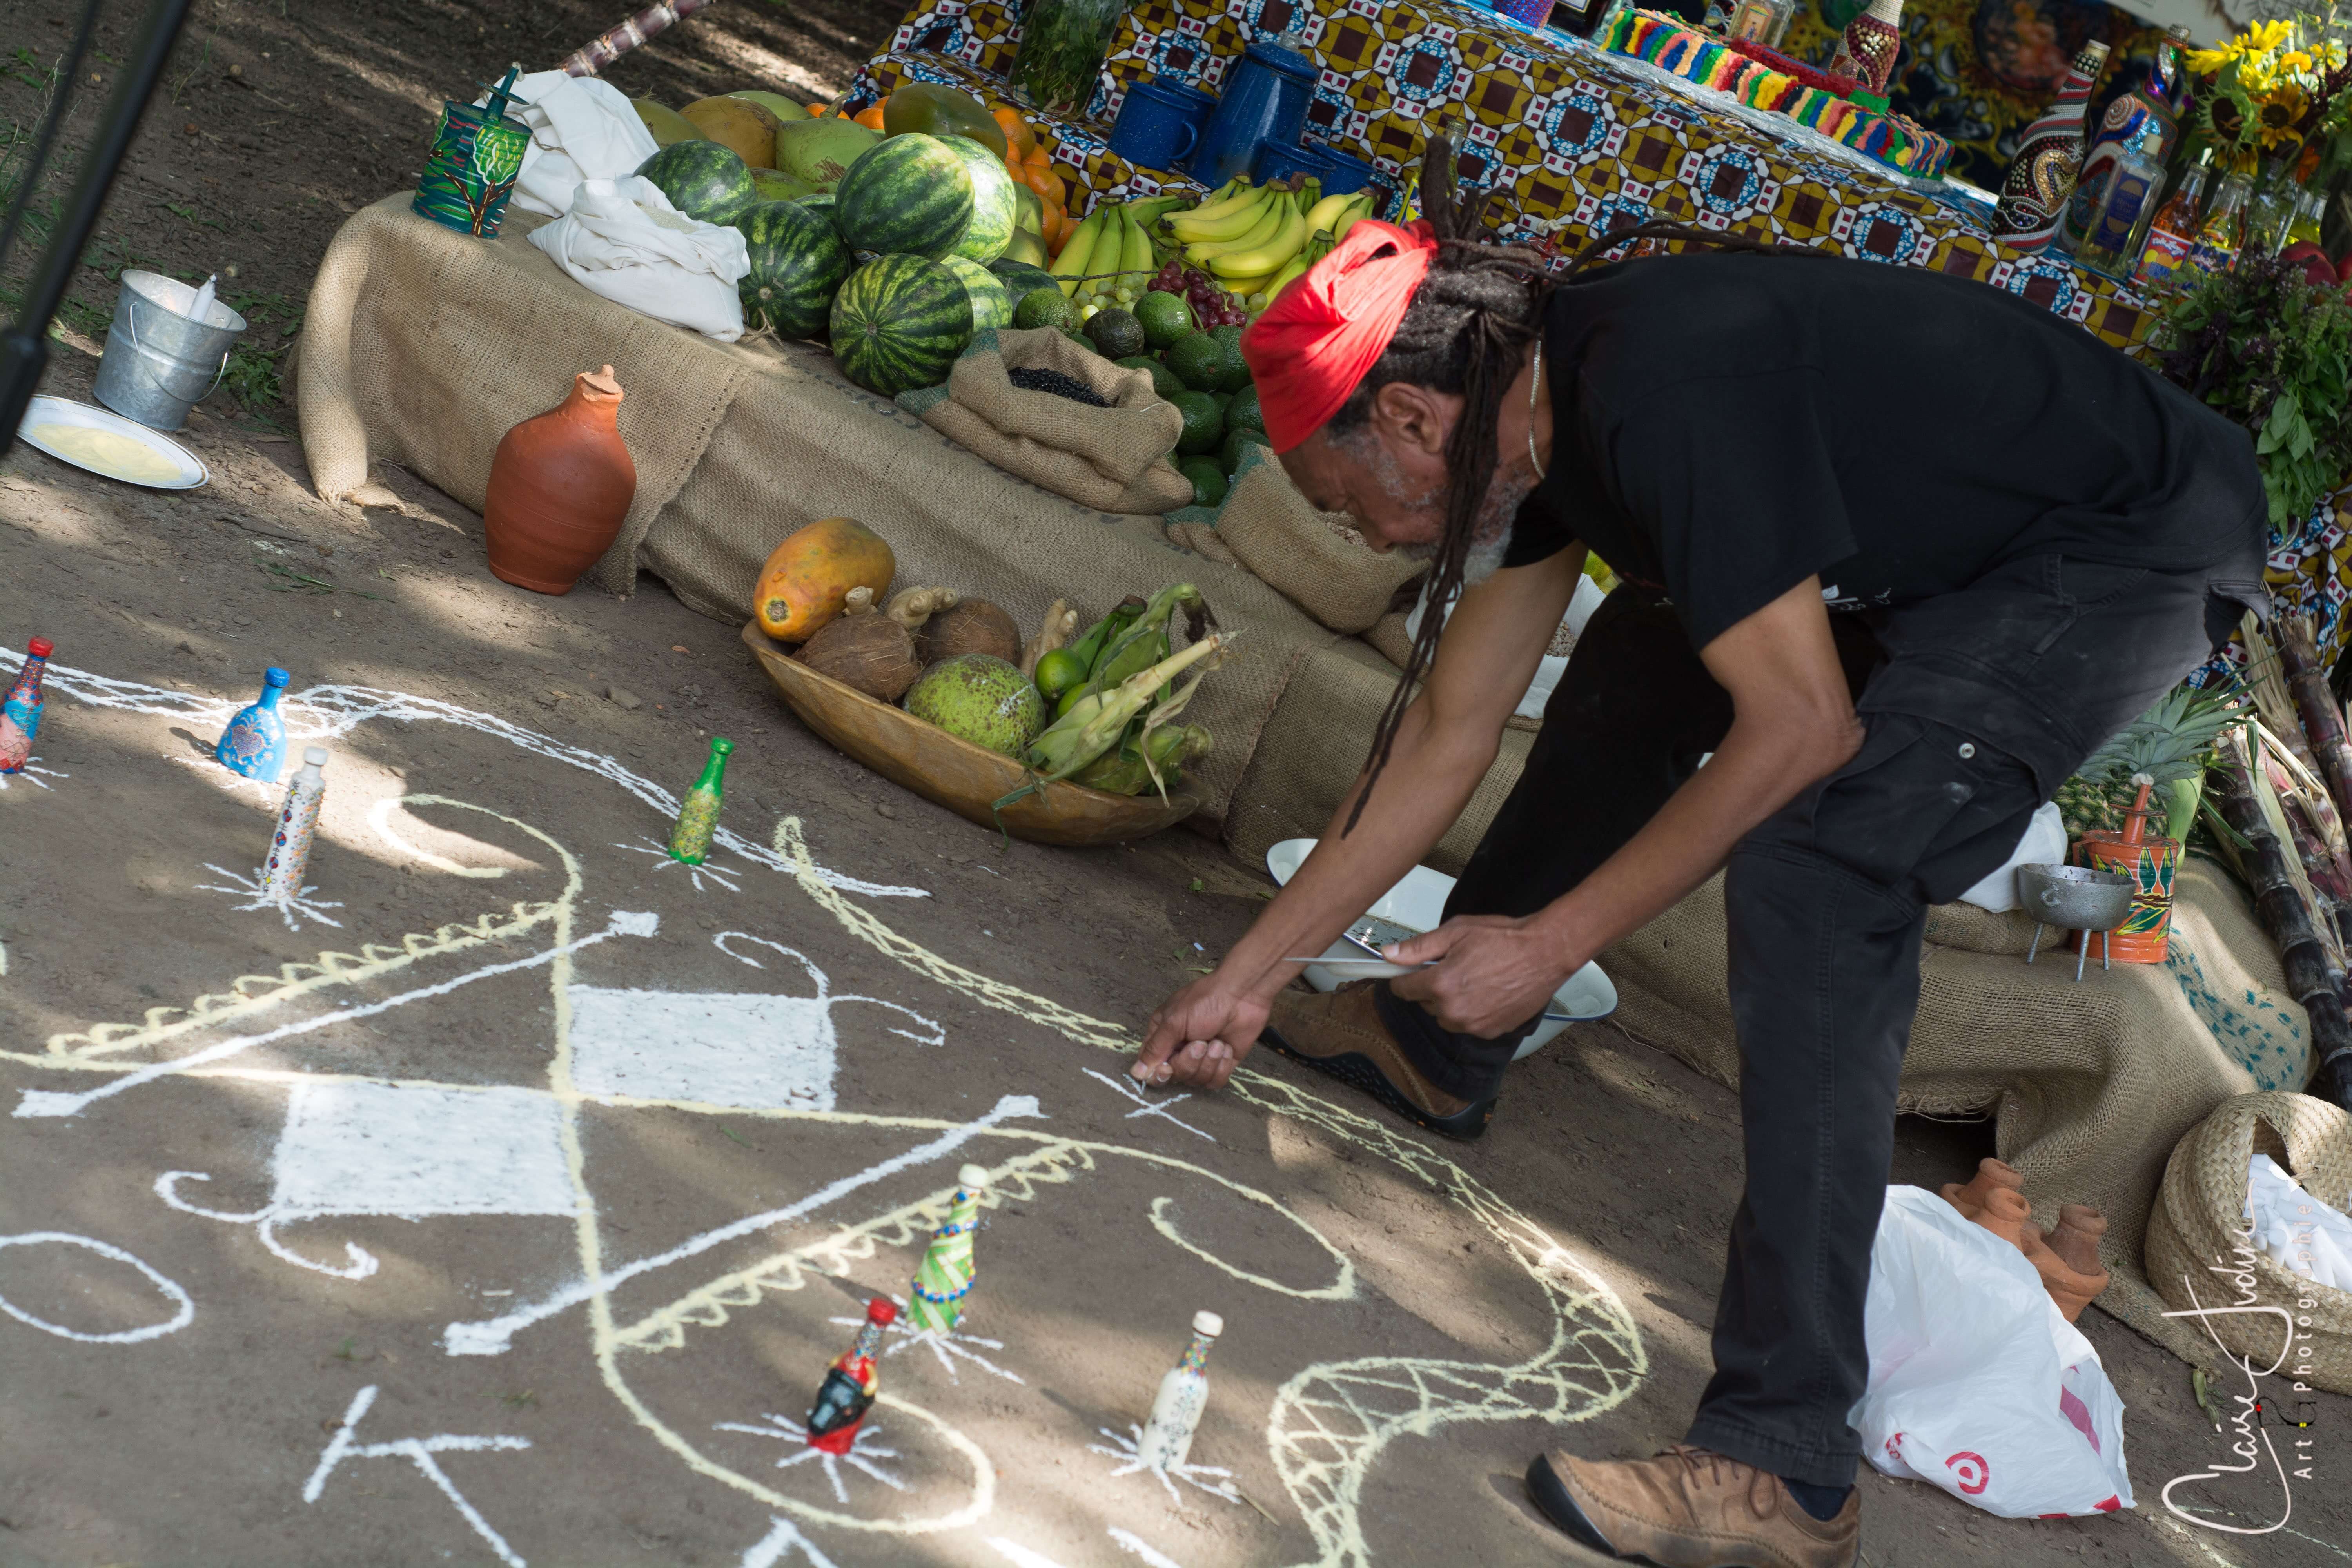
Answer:
<svg viewBox="0 0 2352 1568"><path fill-rule="evenodd" d="M1724 882L1748 1187L1715 1309L1715 1378L1689 1441L1818 1486L1860 1443L1863 1295L1896 1079L1919 1004L1926 905L2009 858L2025 818L2260 602L2260 527L2209 571L2030 557L1846 628L1865 741L1750 832ZM1526 771L1446 914L1531 914L1606 860L1729 726L1672 611L1611 595L1569 658ZM1501 1086L1529 1025L1449 1034L1381 990L1442 1088Z"/></svg>

